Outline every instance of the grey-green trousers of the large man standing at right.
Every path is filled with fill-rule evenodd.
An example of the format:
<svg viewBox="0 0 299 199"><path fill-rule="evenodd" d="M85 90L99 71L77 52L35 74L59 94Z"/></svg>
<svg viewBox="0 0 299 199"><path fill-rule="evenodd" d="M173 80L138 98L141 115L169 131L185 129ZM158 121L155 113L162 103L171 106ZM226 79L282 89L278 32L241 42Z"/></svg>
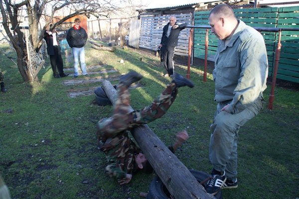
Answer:
<svg viewBox="0 0 299 199"><path fill-rule="evenodd" d="M229 103L229 102L228 102ZM227 104L218 103L217 111L210 130L209 159L217 171L225 171L227 180L237 179L237 141L240 126L255 117L264 106L264 99L260 96L253 105L242 112L231 114L221 109Z"/></svg>

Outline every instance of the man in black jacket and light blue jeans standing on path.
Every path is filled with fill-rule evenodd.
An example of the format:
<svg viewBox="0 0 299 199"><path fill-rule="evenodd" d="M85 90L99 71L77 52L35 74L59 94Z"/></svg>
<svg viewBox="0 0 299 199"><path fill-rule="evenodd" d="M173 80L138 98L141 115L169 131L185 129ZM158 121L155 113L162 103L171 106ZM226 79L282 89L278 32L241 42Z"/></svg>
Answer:
<svg viewBox="0 0 299 199"><path fill-rule="evenodd" d="M85 65L85 51L84 46L87 41L87 33L80 26L81 20L79 18L75 18L75 25L71 27L66 34L66 41L68 45L73 50L74 56L74 76L73 78L77 78L79 76L78 71L78 63L79 63L79 56L80 56L80 63L81 63L81 71L82 75L89 77L86 72L86 65Z"/></svg>

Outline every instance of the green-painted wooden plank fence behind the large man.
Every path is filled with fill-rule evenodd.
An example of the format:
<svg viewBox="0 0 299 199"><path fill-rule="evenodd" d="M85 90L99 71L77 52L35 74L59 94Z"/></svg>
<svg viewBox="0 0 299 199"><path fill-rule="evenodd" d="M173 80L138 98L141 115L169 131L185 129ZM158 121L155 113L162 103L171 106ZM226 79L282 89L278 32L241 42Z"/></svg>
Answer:
<svg viewBox="0 0 299 199"><path fill-rule="evenodd" d="M299 28L299 6L234 9L236 17L252 27ZM209 25L210 11L194 14L194 25ZM278 35L275 32L261 32L268 52L269 76L273 75L275 50ZM299 83L299 32L282 31L282 50L277 78ZM194 57L204 59L205 29L194 30ZM218 38L209 30L208 60L214 61Z"/></svg>

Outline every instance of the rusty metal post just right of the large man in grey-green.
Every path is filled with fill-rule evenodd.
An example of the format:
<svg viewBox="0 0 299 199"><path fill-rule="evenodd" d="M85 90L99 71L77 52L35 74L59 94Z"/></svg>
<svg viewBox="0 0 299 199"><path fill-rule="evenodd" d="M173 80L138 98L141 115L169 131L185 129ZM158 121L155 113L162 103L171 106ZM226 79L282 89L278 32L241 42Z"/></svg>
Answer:
<svg viewBox="0 0 299 199"><path fill-rule="evenodd" d="M282 37L282 31L280 30L279 31L279 37L278 37L277 49L275 51L275 64L274 64L274 71L273 71L273 77L272 77L271 93L270 93L270 96L269 96L268 109L271 109L271 110L273 108L276 76L277 76L278 63L279 63L279 60L280 60L280 53L281 53L281 48L282 48L281 37Z"/></svg>

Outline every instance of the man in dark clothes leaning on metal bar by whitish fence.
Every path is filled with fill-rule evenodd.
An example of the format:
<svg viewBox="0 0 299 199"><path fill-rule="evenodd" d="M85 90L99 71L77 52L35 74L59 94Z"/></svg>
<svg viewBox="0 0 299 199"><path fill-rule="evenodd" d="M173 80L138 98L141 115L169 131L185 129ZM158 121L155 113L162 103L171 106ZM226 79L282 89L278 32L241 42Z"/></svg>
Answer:
<svg viewBox="0 0 299 199"><path fill-rule="evenodd" d="M176 23L175 16L170 16L169 23L163 27L163 33L159 48L162 47L162 60L164 63L165 75L164 77L173 76L173 55L175 46L177 46L178 35L181 30L185 28L187 23Z"/></svg>

